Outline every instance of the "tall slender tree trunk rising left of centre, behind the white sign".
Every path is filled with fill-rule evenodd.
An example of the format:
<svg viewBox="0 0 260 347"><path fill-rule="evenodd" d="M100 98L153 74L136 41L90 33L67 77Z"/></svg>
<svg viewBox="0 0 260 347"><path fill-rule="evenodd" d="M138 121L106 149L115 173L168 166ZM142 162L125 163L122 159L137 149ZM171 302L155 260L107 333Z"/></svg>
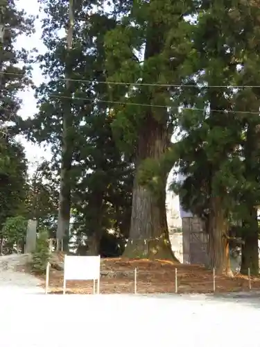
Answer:
<svg viewBox="0 0 260 347"><path fill-rule="evenodd" d="M72 49L73 43L74 11L73 0L69 0L69 28L67 31L67 56ZM73 155L73 145L71 143L71 128L73 126L73 115L71 114L71 84L69 81L69 62L65 66L65 78L68 105L64 108L62 119L62 158L60 169L60 196L58 211L57 245L58 250L69 251L69 222L71 212L71 162Z"/></svg>

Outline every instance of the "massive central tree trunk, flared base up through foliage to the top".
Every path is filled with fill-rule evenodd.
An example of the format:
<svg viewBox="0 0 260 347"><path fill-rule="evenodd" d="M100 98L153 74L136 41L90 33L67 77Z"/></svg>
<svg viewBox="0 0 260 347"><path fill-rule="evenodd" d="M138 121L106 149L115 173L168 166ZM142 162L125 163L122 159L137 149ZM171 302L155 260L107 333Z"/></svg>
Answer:
<svg viewBox="0 0 260 347"><path fill-rule="evenodd" d="M150 0L150 6L156 6L157 0ZM168 28L159 22L157 16L150 16L146 30L146 49L144 62L155 60L162 55L165 48L166 32ZM152 64L153 65L153 64ZM154 74L155 68L153 69ZM162 69L157 67L157 76ZM148 77L150 78L150 76ZM156 78L156 76L154 76ZM144 78L144 83L146 83ZM144 87L144 98L153 104L157 92L162 97L162 90L154 88L153 92ZM169 96L165 91L165 98ZM166 180L168 172L162 172L153 180L160 182L160 189L154 194L147 186L139 182L139 171L145 160L154 160L159 164L170 146L171 133L168 132L167 108L153 107L144 110L144 120L138 134L136 172L132 192L132 216L130 235L123 255L125 257L146 257L150 259L169 259L178 262L171 249L168 225L166 219ZM151 182L153 183L153 182ZM155 182L154 182L155 183Z"/></svg>

